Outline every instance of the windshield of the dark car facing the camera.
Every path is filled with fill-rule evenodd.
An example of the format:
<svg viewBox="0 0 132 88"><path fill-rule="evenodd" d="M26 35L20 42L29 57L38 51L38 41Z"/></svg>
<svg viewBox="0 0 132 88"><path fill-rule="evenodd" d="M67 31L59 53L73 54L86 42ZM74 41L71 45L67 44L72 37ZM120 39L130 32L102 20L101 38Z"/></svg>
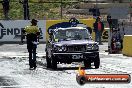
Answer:
<svg viewBox="0 0 132 88"><path fill-rule="evenodd" d="M87 29L58 29L54 32L54 39L63 40L85 40L90 39Z"/></svg>

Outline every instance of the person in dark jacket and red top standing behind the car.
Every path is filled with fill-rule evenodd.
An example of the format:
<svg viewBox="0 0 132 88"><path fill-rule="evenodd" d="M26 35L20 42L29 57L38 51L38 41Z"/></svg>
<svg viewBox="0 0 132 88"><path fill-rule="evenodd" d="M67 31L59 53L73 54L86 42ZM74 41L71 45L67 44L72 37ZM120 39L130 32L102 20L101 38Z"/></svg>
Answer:
<svg viewBox="0 0 132 88"><path fill-rule="evenodd" d="M104 24L101 22L100 18L98 17L96 19L96 22L94 23L94 32L95 32L95 41L98 42L99 44L102 44L101 41L101 36L104 31Z"/></svg>

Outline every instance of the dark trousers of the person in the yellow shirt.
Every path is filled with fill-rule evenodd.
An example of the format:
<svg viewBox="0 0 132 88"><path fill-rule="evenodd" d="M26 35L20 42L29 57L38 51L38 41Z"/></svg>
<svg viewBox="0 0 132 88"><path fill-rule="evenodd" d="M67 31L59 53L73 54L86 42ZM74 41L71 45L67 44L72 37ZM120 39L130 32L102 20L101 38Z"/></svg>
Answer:
<svg viewBox="0 0 132 88"><path fill-rule="evenodd" d="M28 45L30 68L36 67L36 45Z"/></svg>

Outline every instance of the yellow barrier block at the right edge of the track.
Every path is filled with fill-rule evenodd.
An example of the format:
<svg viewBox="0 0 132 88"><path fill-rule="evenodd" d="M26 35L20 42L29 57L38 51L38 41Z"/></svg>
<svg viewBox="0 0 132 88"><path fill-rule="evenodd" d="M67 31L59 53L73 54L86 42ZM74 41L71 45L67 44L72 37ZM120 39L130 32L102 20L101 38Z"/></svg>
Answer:
<svg viewBox="0 0 132 88"><path fill-rule="evenodd" d="M126 56L132 56L132 35L124 35L122 53Z"/></svg>

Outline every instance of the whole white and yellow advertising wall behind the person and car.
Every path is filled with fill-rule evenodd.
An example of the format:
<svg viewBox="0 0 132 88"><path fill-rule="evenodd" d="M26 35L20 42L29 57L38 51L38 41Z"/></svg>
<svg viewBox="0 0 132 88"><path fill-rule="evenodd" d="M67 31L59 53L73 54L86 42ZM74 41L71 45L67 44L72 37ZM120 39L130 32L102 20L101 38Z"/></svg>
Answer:
<svg viewBox="0 0 132 88"><path fill-rule="evenodd" d="M40 42L46 42L46 31L56 24L65 25L69 20L38 20L38 27L41 32ZM94 19L81 19L79 20L78 26L88 26L93 29ZM21 30L26 26L30 25L30 20L0 20L0 43L18 43L21 41ZM59 25L60 26L60 25ZM66 26L66 25L65 25ZM93 31L93 30L92 30ZM48 35L47 35L48 36ZM92 37L94 39L95 33L92 32ZM108 31L102 34L102 40L108 41Z"/></svg>

